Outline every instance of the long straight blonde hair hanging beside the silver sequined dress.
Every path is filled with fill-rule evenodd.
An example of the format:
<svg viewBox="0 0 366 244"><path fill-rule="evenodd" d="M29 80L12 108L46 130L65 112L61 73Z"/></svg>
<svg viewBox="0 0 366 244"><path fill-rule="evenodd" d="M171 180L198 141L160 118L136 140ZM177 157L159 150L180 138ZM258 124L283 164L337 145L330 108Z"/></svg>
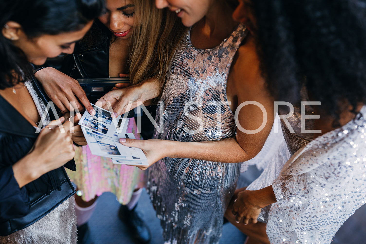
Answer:
<svg viewBox="0 0 366 244"><path fill-rule="evenodd" d="M130 42L130 80L135 85L147 78L165 85L169 60L186 27L174 12L158 9L154 0L135 0L134 30Z"/></svg>

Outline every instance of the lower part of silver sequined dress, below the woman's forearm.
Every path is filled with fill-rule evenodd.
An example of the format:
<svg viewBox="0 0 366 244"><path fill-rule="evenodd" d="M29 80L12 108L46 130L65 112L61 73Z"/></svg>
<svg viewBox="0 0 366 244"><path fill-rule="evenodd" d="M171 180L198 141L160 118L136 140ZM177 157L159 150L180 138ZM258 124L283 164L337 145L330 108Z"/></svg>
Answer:
<svg viewBox="0 0 366 244"><path fill-rule="evenodd" d="M219 243L240 163L164 158L148 173L148 192L166 243Z"/></svg>

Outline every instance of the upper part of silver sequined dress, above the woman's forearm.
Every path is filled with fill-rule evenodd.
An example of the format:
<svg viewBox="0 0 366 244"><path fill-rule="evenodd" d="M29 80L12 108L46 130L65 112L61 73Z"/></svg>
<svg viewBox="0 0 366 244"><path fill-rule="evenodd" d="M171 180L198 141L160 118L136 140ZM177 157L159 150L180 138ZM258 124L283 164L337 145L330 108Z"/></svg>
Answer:
<svg viewBox="0 0 366 244"><path fill-rule="evenodd" d="M166 127L156 138L212 141L235 135L226 82L243 37L244 31L213 49L198 49L192 46L188 32L187 46L179 45L176 53L180 55L171 67L172 73L168 75L161 97Z"/></svg>

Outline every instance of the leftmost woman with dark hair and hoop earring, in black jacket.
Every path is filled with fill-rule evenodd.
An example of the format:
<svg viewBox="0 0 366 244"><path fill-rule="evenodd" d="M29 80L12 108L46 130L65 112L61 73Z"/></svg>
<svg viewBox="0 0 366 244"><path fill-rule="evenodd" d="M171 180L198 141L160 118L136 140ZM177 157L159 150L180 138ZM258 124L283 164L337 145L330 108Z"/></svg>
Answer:
<svg viewBox="0 0 366 244"><path fill-rule="evenodd" d="M85 144L85 138L66 115L49 123L55 118L46 111L48 98L30 63L72 52L102 5L100 0L0 1L1 244L76 242L75 189L64 165L75 170L72 143Z"/></svg>

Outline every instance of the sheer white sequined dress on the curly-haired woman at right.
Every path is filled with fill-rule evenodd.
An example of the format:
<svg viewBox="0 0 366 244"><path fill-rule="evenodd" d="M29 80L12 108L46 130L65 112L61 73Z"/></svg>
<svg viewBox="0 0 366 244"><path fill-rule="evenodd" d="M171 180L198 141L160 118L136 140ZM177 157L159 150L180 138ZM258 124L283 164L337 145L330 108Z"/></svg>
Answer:
<svg viewBox="0 0 366 244"><path fill-rule="evenodd" d="M366 201L366 106L343 127L310 141L273 181L270 243L328 244Z"/></svg>

